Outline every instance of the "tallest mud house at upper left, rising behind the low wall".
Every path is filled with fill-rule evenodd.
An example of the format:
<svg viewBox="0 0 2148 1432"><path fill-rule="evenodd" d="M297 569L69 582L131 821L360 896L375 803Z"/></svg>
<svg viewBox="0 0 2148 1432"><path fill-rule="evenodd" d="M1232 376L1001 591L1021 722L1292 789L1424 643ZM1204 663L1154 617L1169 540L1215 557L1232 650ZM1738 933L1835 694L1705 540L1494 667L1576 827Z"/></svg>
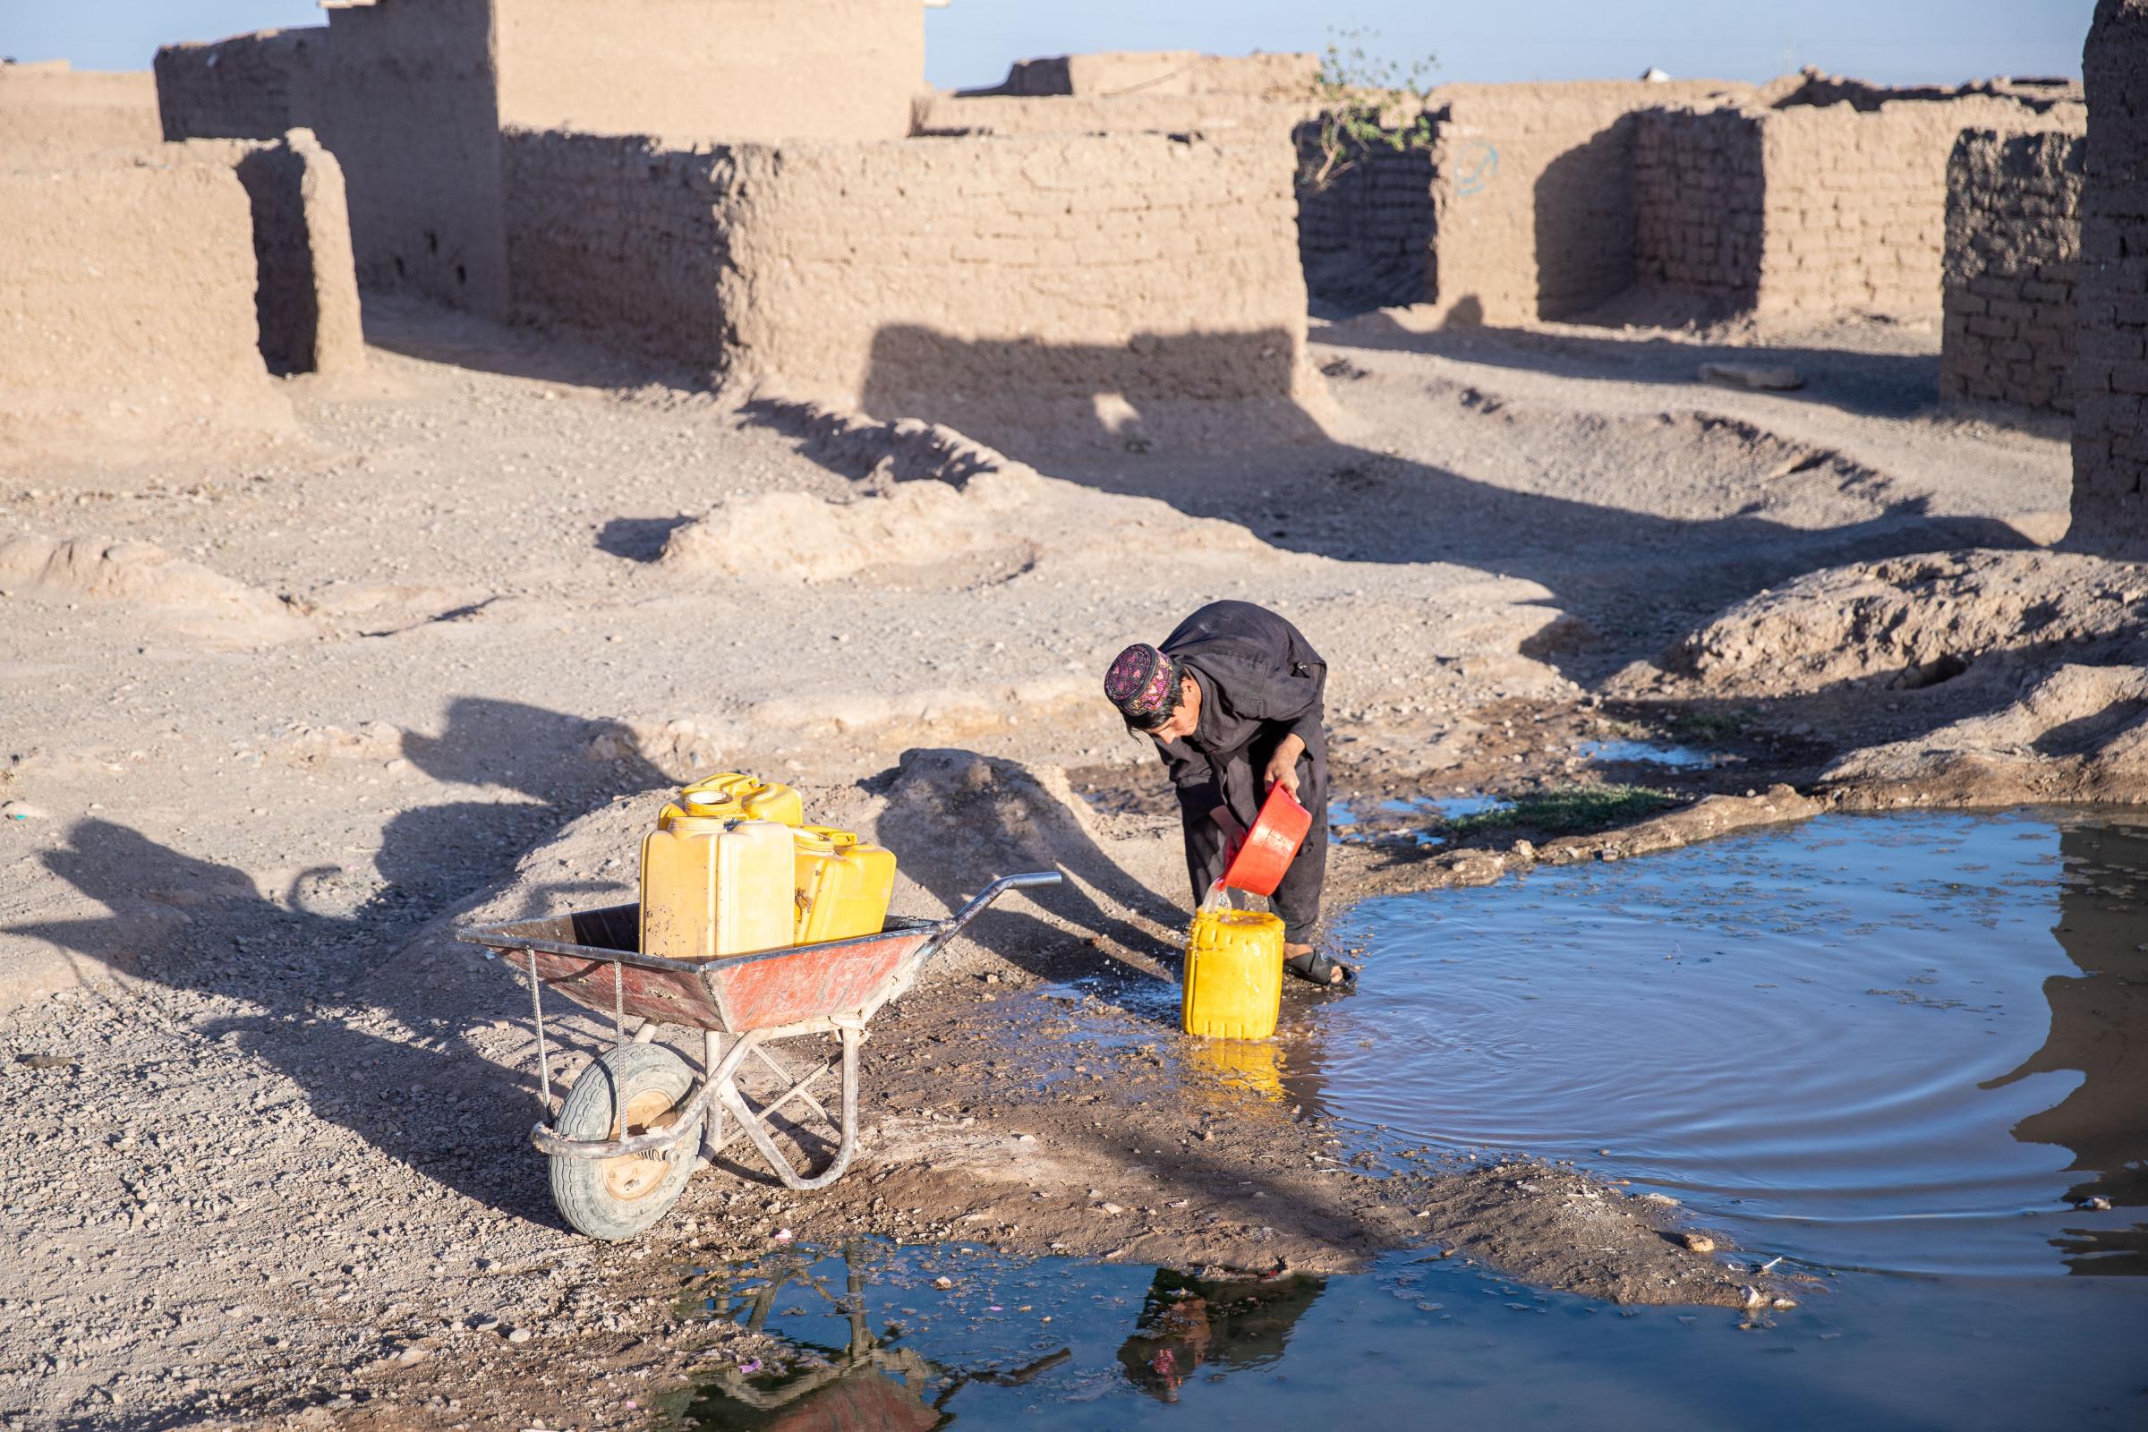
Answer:
<svg viewBox="0 0 2148 1432"><path fill-rule="evenodd" d="M324 28L157 54L168 140L316 131L361 279L490 316L509 133L894 140L921 88L917 0L335 0Z"/></svg>

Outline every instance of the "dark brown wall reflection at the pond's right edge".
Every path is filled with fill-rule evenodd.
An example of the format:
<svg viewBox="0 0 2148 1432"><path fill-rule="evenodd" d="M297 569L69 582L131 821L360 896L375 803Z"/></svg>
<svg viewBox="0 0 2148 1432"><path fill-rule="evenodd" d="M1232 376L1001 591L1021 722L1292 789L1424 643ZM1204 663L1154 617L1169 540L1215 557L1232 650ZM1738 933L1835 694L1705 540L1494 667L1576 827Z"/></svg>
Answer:
<svg viewBox="0 0 2148 1432"><path fill-rule="evenodd" d="M2066 885L2058 897L2060 947L2079 975L2043 981L2051 1033L2013 1073L2075 1069L2081 1084L2015 1138L2073 1151L2066 1172L2092 1174L2066 1196L2118 1209L2148 1207L2148 829L2079 827L2058 837ZM2071 1228L2056 1239L2075 1273L2148 1273L2148 1224Z"/></svg>

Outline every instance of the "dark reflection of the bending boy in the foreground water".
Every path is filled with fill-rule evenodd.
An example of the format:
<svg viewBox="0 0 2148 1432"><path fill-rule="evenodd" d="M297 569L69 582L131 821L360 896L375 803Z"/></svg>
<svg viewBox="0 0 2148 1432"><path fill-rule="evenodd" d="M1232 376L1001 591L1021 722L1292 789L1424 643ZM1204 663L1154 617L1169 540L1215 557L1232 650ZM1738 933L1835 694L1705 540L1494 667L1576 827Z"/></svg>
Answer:
<svg viewBox="0 0 2148 1432"><path fill-rule="evenodd" d="M1297 1318L1325 1286L1325 1277L1280 1267L1265 1277L1220 1280L1156 1269L1119 1365L1141 1391L1177 1402L1179 1387L1203 1363L1237 1372L1278 1361Z"/></svg>

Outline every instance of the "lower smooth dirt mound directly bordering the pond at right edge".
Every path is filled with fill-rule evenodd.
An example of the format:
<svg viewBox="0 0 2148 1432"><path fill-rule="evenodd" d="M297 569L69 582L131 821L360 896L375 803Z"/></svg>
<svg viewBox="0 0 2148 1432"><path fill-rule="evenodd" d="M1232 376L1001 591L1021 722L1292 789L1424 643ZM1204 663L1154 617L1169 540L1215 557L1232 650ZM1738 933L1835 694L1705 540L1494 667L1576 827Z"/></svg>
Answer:
<svg viewBox="0 0 2148 1432"><path fill-rule="evenodd" d="M1998 711L1852 751L1826 779L1867 805L2139 801L2148 790L2148 640L2135 640L2124 663L2060 666Z"/></svg>

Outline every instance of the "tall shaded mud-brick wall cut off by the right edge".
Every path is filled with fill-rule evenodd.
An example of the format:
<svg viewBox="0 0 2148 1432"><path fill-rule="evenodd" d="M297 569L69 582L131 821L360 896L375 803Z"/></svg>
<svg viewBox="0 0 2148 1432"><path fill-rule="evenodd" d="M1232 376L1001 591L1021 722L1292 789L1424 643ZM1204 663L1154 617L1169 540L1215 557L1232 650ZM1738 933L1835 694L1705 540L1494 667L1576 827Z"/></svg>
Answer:
<svg viewBox="0 0 2148 1432"><path fill-rule="evenodd" d="M2148 0L2096 0L2069 545L2148 556Z"/></svg>

